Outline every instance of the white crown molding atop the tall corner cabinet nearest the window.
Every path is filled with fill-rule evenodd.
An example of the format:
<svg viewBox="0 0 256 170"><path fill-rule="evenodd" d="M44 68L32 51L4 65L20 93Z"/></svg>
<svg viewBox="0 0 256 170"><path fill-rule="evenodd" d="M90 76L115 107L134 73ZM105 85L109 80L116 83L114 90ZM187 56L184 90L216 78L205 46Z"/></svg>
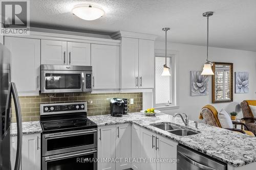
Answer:
<svg viewBox="0 0 256 170"><path fill-rule="evenodd" d="M118 31L118 32L111 34L110 37L113 39L118 39L120 37L127 37L127 38L140 38L140 39L147 39L147 40L156 40L157 35L127 32L127 31Z"/></svg>

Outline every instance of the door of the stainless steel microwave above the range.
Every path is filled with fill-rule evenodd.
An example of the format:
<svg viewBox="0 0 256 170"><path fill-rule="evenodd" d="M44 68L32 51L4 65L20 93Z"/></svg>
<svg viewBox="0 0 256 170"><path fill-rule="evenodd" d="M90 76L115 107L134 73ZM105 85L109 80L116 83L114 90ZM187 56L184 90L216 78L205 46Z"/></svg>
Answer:
<svg viewBox="0 0 256 170"><path fill-rule="evenodd" d="M85 84L86 72L41 70L41 93L88 91Z"/></svg>

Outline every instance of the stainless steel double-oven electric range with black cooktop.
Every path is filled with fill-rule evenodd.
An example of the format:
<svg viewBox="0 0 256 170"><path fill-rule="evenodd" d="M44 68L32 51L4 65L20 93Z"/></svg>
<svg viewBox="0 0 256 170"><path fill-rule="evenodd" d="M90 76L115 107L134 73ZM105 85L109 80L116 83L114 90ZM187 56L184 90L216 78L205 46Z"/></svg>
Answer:
<svg viewBox="0 0 256 170"><path fill-rule="evenodd" d="M96 170L97 125L87 103L40 105L42 170Z"/></svg>

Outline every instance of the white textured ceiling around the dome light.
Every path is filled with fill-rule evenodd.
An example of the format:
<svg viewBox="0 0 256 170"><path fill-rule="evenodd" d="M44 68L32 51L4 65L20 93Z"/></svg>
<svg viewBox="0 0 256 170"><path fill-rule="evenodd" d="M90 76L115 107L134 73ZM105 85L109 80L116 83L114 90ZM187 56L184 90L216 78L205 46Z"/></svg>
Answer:
<svg viewBox="0 0 256 170"><path fill-rule="evenodd" d="M71 14L74 5L97 4L105 15L94 21ZM206 44L209 17L209 45L256 51L256 0L33 0L30 1L32 27L44 27L110 34L119 30L158 35L170 27L169 42Z"/></svg>

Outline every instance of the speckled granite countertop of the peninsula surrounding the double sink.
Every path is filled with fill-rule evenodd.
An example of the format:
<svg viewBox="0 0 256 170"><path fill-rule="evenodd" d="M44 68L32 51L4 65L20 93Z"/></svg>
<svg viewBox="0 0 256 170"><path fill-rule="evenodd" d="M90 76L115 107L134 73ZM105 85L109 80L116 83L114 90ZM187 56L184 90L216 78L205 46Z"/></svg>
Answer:
<svg viewBox="0 0 256 170"><path fill-rule="evenodd" d="M194 121L190 120L188 128L200 133L178 136L150 125L152 123L170 122L185 127L181 118L164 113L158 113L156 116L145 116L143 113L129 113L122 117L99 115L88 116L88 118L98 126L134 123L232 166L239 167L256 162L256 137L245 134L202 123L198 124L198 130L196 130Z"/></svg>

